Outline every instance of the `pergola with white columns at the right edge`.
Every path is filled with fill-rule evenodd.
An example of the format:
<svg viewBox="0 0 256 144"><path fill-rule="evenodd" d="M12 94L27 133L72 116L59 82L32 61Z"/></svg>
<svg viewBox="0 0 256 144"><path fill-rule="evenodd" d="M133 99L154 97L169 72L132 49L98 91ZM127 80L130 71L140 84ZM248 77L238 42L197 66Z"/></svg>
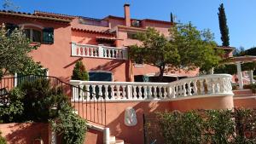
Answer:
<svg viewBox="0 0 256 144"><path fill-rule="evenodd" d="M242 73L241 73L241 64L247 63L247 62L253 62L256 61L256 56L252 55L245 55L245 56L237 56L237 57L231 57L227 64L236 64L237 69L237 77L238 77L238 84L239 89L243 89L243 81L242 81ZM253 70L248 71L249 78L250 78L250 84L253 84Z"/></svg>

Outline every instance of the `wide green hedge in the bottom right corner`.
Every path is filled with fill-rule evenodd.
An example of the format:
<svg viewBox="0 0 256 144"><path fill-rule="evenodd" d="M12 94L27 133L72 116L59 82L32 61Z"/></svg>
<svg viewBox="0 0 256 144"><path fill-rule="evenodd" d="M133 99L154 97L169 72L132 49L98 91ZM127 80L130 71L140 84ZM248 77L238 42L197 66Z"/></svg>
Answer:
<svg viewBox="0 0 256 144"><path fill-rule="evenodd" d="M256 141L251 109L161 112L157 119L166 144L249 144Z"/></svg>

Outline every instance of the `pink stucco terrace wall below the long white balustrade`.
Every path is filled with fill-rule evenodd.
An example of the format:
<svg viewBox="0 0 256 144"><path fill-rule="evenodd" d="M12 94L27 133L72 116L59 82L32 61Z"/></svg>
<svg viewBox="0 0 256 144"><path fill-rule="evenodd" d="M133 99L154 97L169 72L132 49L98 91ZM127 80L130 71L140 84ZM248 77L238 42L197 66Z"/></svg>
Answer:
<svg viewBox="0 0 256 144"><path fill-rule="evenodd" d="M189 111L192 109L227 109L234 107L233 96L209 96L178 101L123 101L107 102L106 107L101 103L76 103L79 115L88 117L91 121L101 123L105 117L106 108L106 127L110 129L111 135L131 144L143 143L143 114L165 111ZM86 109L87 107L87 109ZM101 108L102 107L102 108ZM137 125L126 126L125 108L133 107L137 114Z"/></svg>

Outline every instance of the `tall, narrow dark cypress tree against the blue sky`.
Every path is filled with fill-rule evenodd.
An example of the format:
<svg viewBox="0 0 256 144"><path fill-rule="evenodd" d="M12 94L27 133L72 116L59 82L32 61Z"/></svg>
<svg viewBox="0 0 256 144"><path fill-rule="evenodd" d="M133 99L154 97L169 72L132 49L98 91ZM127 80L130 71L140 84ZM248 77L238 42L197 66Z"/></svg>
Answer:
<svg viewBox="0 0 256 144"><path fill-rule="evenodd" d="M218 8L218 23L221 33L222 45L228 47L230 46L229 27L227 26L227 18L223 3L221 3Z"/></svg>

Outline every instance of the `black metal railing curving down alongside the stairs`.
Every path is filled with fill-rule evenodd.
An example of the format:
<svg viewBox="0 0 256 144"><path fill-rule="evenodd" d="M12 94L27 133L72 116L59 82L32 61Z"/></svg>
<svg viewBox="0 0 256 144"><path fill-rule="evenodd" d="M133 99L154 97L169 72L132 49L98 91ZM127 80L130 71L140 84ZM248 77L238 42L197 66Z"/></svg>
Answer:
<svg viewBox="0 0 256 144"><path fill-rule="evenodd" d="M87 91L79 86L74 86L62 81L60 78L51 76L26 75L18 77L3 77L0 79L0 102L8 103L9 90L14 89L24 82L32 82L38 78L46 78L49 80L51 88L61 89L63 94L67 95L70 105L75 109L81 118L88 122L106 125L106 101L102 95L94 94L91 91L90 95L100 97L98 100L76 100L73 99L73 91L79 91L80 97L83 97ZM81 91L81 93L80 93Z"/></svg>

